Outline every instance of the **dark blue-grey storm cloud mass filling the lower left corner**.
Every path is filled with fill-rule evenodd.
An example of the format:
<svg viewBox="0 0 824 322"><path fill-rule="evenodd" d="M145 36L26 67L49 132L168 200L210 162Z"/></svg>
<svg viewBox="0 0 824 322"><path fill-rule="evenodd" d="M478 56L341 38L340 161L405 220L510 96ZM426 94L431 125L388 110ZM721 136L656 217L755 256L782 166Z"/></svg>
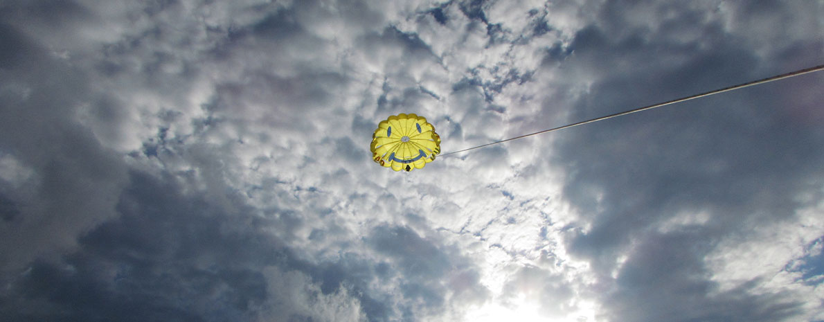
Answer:
<svg viewBox="0 0 824 322"><path fill-rule="evenodd" d="M289 259L279 240L247 231L254 218L149 175L131 175L117 208L117 219L82 236L81 250L13 278L0 310L18 316L8 320L250 320L267 296L251 268Z"/></svg>

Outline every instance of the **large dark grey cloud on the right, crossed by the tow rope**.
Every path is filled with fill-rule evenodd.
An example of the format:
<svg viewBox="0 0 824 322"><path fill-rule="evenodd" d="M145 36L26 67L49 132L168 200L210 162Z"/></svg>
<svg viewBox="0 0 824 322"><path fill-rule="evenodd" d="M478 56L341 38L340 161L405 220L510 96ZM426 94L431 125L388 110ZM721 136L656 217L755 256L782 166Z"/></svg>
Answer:
<svg viewBox="0 0 824 322"><path fill-rule="evenodd" d="M604 76L578 100L573 121L822 59L802 51L793 66L777 70L756 56L747 40L717 23L696 23L704 19L702 12L684 12L653 30L616 28L631 25L623 21L628 8L610 3L602 25L579 31L570 46L574 57L568 62ZM779 3L773 5L782 7ZM677 40L679 30L695 28L699 39ZM817 40L807 45L820 41L820 35L810 36ZM711 44L704 47L711 50L700 42ZM559 52L548 57L557 60ZM704 259L720 240L793 220L798 209L811 206L798 196L824 184L822 124L794 119L789 112L795 108L788 105L798 104L793 97L798 88L817 79L750 88L559 134L556 161L568 173L564 194L592 222L589 231L569 241L570 250L591 260L606 284L620 255L630 251L615 291L604 296L611 320L782 320L798 314L801 303L785 301L777 292L752 295L753 286L714 294L718 285ZM700 212L709 212L703 224L650 232Z"/></svg>

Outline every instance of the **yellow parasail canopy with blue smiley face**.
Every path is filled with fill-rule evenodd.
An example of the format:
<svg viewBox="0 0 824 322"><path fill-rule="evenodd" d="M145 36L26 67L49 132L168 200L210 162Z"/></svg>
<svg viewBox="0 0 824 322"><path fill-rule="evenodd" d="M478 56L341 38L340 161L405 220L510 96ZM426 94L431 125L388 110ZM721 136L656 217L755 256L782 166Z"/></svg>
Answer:
<svg viewBox="0 0 824 322"><path fill-rule="evenodd" d="M381 121L369 148L377 164L410 171L435 160L441 152L441 137L423 116L397 114Z"/></svg>

